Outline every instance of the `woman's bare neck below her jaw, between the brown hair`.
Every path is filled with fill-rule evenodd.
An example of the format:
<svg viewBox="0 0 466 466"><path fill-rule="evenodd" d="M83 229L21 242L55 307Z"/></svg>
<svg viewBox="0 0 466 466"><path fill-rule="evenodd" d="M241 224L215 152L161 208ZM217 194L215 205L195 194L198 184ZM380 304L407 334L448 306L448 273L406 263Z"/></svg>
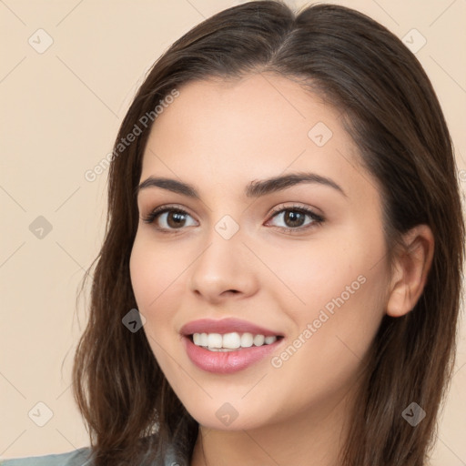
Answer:
<svg viewBox="0 0 466 466"><path fill-rule="evenodd" d="M338 466L348 435L354 390L312 406L285 422L219 431L199 425L191 466Z"/></svg>

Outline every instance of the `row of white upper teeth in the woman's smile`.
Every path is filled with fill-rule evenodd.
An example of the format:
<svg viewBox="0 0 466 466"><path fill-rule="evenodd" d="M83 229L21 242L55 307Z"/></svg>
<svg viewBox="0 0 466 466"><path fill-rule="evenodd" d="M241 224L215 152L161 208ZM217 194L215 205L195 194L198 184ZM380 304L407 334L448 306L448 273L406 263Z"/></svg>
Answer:
<svg viewBox="0 0 466 466"><path fill-rule="evenodd" d="M251 346L270 345L277 337L265 337L264 335L253 335L252 333L194 333L193 342L211 351L231 351L238 348L250 348Z"/></svg>

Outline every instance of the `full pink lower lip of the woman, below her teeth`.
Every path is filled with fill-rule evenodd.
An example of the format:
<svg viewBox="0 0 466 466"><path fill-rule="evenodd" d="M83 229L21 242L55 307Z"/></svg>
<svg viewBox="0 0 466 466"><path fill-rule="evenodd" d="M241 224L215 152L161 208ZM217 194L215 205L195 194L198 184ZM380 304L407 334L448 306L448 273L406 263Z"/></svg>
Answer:
<svg viewBox="0 0 466 466"><path fill-rule="evenodd" d="M248 368L277 349L281 340L277 339L269 345L251 346L234 351L209 351L195 345L188 337L183 337L189 359L199 369L217 374L231 374Z"/></svg>

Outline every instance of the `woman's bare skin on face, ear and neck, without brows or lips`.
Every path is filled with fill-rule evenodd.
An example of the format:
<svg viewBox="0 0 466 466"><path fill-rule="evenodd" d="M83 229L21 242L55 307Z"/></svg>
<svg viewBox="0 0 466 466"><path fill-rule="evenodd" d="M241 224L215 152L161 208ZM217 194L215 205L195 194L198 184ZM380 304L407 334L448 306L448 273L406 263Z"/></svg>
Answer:
<svg viewBox="0 0 466 466"><path fill-rule="evenodd" d="M174 178L196 187L200 199L161 187L140 190L141 218L166 204L189 215L178 228L167 214L152 224L141 219L130 273L154 356L200 424L191 465L336 465L380 320L404 315L420 297L431 230L419 226L406 235L409 253L400 253L390 276L379 185L360 166L339 111L296 82L257 74L179 91L151 129L140 182ZM332 132L322 147L308 136L318 122ZM244 194L253 180L295 172L329 177L344 194L319 183L260 198ZM283 211L273 217L274 208L296 205L324 221L305 228L309 217L301 227ZM225 215L239 228L229 239L215 229ZM365 279L359 289L303 338L321 309L358 277ZM284 334L272 356L299 335L302 344L279 368L267 357L233 374L198 369L179 330L191 320L227 317ZM238 412L228 426L216 416L225 402Z"/></svg>

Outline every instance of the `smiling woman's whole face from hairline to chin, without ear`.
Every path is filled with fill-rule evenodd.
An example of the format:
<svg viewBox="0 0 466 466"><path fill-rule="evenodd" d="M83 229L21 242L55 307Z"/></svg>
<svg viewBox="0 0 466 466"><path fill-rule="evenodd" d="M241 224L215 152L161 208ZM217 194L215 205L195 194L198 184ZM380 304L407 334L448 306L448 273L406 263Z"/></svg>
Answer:
<svg viewBox="0 0 466 466"><path fill-rule="evenodd" d="M354 386L384 314L378 184L339 111L287 78L178 90L137 198L143 331L201 425L309 419Z"/></svg>

